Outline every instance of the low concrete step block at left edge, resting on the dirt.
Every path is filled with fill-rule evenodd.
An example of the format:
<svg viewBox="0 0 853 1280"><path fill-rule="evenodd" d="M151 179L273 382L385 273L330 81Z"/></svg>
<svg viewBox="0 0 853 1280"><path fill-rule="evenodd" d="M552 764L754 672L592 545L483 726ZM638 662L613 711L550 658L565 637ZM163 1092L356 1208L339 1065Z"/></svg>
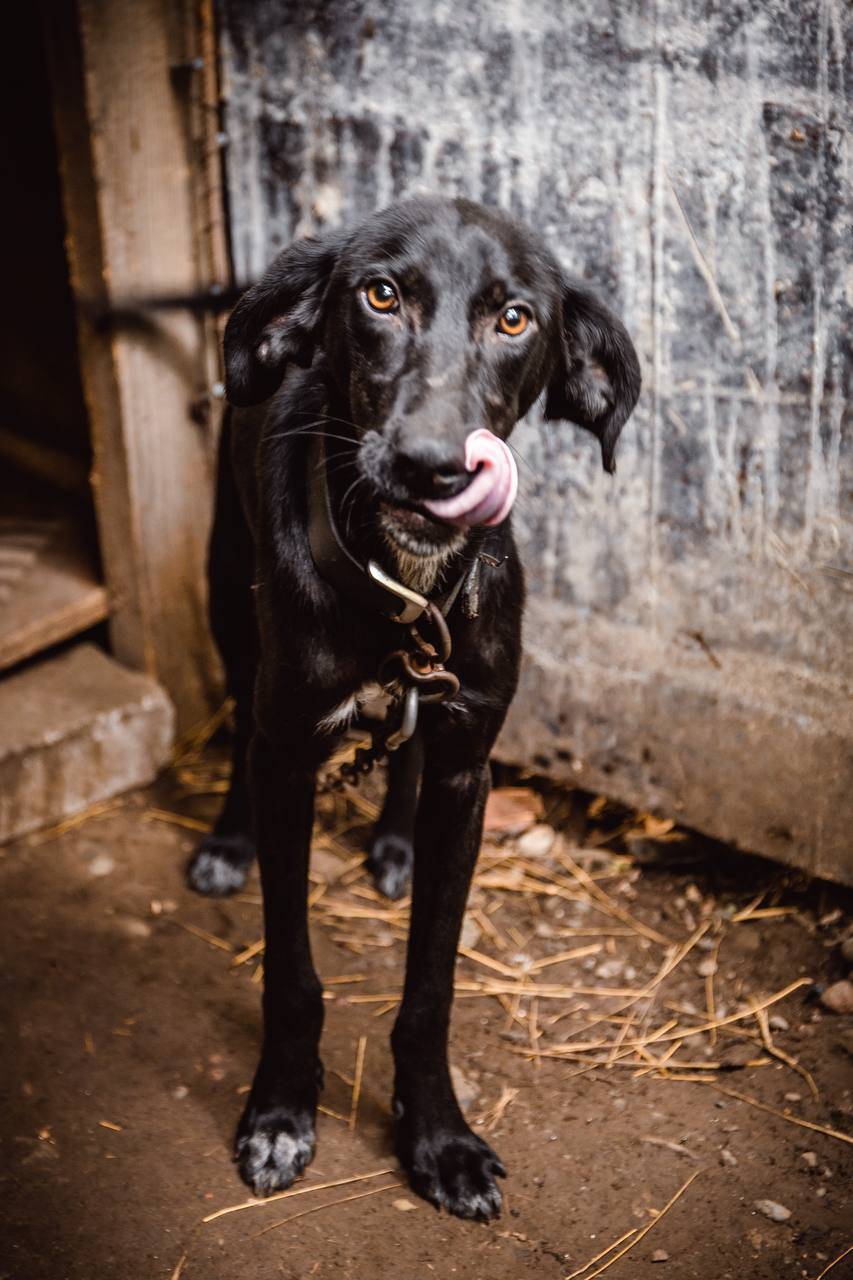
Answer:
<svg viewBox="0 0 853 1280"><path fill-rule="evenodd" d="M149 676L79 644L0 680L0 844L150 782L174 709Z"/></svg>

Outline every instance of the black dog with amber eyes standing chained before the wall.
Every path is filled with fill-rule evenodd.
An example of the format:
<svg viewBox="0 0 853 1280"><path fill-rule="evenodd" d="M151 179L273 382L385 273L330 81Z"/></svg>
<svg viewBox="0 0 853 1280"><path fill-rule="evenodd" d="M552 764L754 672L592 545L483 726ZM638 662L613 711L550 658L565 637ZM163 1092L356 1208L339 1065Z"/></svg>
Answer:
<svg viewBox="0 0 853 1280"><path fill-rule="evenodd" d="M469 201L430 198L279 253L231 316L225 362L236 408L223 433L210 591L237 732L231 791L190 883L232 892L257 850L264 1044L237 1133L241 1174L270 1193L314 1153L315 774L382 659L411 635L402 581L447 612L459 690L424 701L416 733L391 756L370 855L391 896L414 861L392 1033L396 1146L416 1192L488 1219L505 1170L459 1108L447 1034L489 751L516 686L524 585L508 520L461 530L424 503L473 483L473 429L506 439L543 392L546 416L594 431L612 471L639 394L637 355L620 321L528 229Z"/></svg>

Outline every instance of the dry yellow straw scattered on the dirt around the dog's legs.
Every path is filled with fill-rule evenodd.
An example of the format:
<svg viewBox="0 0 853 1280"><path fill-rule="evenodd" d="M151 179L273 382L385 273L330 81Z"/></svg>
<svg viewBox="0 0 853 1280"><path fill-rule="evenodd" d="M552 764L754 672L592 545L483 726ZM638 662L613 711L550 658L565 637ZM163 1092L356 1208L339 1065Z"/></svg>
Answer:
<svg viewBox="0 0 853 1280"><path fill-rule="evenodd" d="M202 727L204 732L207 728ZM222 765L211 762L199 745L202 737L204 733L191 737L175 764L179 790L175 808L187 801L192 813L160 809L151 812L154 820L173 820L192 831L207 829L213 805L219 803L227 780ZM578 842L558 829L558 814L556 818L548 814L552 824L540 820L544 809L529 788L511 791L502 801L497 824L489 827L487 822L460 945L456 998L491 1002L500 1011L500 1034L508 1041L505 1047L529 1064L532 1076L544 1062L551 1062L562 1064L567 1078L594 1076L613 1083L644 1078L667 1087L701 1084L788 1125L850 1144L853 1138L848 1134L800 1114L800 1107L775 1107L722 1083L733 1073L754 1079L768 1066L776 1066L804 1082L806 1106L827 1105L811 1073L785 1044L785 1019L779 1018L785 1001L802 1000L812 984L811 977L793 977L775 989L748 989L726 959L736 931L754 928L760 922L762 925L794 922L813 928L799 906L784 900L785 877L779 876L776 886L745 902L703 893L689 884L674 910L649 919L648 911L637 914L631 908L633 886L643 872L631 850L649 841L680 841L683 833L670 819L635 814L616 827L593 826ZM205 804L210 806L207 812ZM588 806L588 827L606 817L606 810L607 801L594 799ZM353 972L324 978L324 997L364 1006L364 1015L371 1019L382 1019L398 1007L402 987L388 984L387 978L377 983L370 965L366 961L359 965L359 960L397 948L402 966L410 914L409 897L396 902L380 897L365 869L370 826L378 812L375 800L362 791L319 797L309 886L313 927L327 932L343 956L353 957ZM501 829L505 819L506 829ZM260 906L259 895L251 891L236 901L247 909ZM257 932L247 932L236 945L191 920L174 923L209 946L227 951L227 964L237 974L254 963L252 977L259 980L264 942L259 918L247 910L247 931L252 920ZM695 998L685 998L685 989L695 991ZM350 1089L348 1108L320 1106L321 1114L351 1130L357 1124L366 1083L366 1041L362 1034L353 1046L351 1075L333 1073ZM534 1084L533 1078L530 1083ZM488 1133L497 1129L519 1093L517 1079L514 1085L503 1085L500 1096L473 1116L475 1126ZM698 1158L684 1144L657 1135L640 1140L665 1146L683 1158ZM701 1171L692 1172L647 1226L626 1231L571 1275L593 1280L635 1248ZM266 1201L252 1199L219 1210L204 1221L389 1172L393 1170L301 1184ZM389 1187L311 1206L264 1230L386 1189ZM844 1257L840 1254L836 1262ZM822 1274L833 1266L835 1262Z"/></svg>

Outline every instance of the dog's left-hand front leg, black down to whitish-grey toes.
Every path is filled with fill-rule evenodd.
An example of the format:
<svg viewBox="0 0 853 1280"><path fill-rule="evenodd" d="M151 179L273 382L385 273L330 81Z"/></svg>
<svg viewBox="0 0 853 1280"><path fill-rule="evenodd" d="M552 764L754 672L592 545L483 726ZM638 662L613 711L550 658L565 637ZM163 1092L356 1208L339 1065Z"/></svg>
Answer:
<svg viewBox="0 0 853 1280"><path fill-rule="evenodd" d="M315 755L310 741L272 742L260 730L250 751L264 891L264 1044L236 1158L259 1196L289 1187L314 1155L323 1027L307 928Z"/></svg>

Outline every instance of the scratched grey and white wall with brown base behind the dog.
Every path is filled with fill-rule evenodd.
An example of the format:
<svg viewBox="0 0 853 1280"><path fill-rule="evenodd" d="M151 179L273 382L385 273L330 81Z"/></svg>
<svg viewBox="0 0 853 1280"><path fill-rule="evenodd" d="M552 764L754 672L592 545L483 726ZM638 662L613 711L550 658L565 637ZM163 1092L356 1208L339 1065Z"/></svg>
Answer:
<svg viewBox="0 0 853 1280"><path fill-rule="evenodd" d="M843 0L222 0L241 276L432 189L635 335L619 472L519 429L508 759L853 878Z"/></svg>

